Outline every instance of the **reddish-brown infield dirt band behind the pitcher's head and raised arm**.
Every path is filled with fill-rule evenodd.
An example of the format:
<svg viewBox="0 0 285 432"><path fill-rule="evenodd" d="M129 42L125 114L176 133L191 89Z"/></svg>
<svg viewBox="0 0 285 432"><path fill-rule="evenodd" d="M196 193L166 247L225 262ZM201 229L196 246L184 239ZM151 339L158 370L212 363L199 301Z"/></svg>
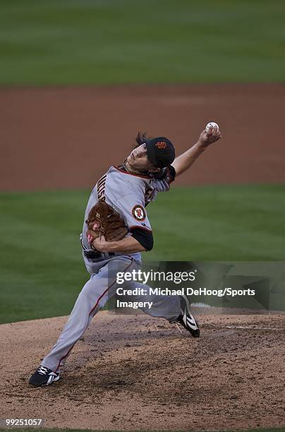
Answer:
<svg viewBox="0 0 285 432"><path fill-rule="evenodd" d="M91 188L138 130L176 152L217 121L223 140L176 184L285 181L285 86L128 85L1 88L0 191Z"/></svg>

